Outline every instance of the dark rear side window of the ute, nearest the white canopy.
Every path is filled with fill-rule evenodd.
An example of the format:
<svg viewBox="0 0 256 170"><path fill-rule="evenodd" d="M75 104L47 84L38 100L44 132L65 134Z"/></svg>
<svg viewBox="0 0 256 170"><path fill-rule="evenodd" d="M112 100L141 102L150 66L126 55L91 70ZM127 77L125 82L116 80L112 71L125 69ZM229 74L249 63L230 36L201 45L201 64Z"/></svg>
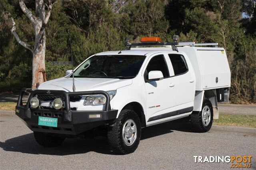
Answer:
<svg viewBox="0 0 256 170"><path fill-rule="evenodd" d="M172 62L174 75L185 73L188 70L185 58L179 54L168 54Z"/></svg>

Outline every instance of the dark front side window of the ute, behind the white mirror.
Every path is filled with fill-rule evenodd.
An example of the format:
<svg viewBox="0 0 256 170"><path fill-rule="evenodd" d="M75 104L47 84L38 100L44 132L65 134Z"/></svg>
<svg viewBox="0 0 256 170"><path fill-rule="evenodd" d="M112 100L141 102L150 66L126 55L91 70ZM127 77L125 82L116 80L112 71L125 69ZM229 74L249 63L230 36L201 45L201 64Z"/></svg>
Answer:
<svg viewBox="0 0 256 170"><path fill-rule="evenodd" d="M148 79L148 73L150 71L161 71L164 77L170 76L164 59L164 55L157 55L149 61L146 71L144 73L145 80Z"/></svg>

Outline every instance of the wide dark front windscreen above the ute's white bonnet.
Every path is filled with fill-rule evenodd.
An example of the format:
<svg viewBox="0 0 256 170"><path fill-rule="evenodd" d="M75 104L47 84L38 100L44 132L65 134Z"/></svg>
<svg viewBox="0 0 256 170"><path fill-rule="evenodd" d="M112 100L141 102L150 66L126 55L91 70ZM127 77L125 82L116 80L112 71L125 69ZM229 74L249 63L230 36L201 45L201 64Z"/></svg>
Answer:
<svg viewBox="0 0 256 170"><path fill-rule="evenodd" d="M134 78L144 62L144 55L96 55L74 72L84 78Z"/></svg>

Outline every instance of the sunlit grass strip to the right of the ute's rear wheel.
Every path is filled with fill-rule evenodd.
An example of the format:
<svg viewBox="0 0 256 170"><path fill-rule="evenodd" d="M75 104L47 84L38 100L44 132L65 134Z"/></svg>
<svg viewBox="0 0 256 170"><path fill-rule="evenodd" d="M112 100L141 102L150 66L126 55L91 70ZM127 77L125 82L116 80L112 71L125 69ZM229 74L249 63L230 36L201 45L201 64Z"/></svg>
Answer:
<svg viewBox="0 0 256 170"><path fill-rule="evenodd" d="M220 114L219 119L213 120L213 124L214 125L256 127L256 115Z"/></svg>

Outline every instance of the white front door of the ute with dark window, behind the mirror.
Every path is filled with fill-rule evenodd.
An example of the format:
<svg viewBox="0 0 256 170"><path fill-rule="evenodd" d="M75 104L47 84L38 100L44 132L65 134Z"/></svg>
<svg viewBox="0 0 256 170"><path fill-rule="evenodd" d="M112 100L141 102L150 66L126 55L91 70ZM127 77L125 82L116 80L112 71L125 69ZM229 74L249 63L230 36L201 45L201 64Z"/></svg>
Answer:
<svg viewBox="0 0 256 170"><path fill-rule="evenodd" d="M168 56L164 54L153 55L147 61L144 80L147 80L148 73L154 70L161 71L164 76L163 80L145 82L147 121L163 119L161 115L169 112L170 108L176 105L175 77L173 77L173 71L169 71L170 67Z"/></svg>

